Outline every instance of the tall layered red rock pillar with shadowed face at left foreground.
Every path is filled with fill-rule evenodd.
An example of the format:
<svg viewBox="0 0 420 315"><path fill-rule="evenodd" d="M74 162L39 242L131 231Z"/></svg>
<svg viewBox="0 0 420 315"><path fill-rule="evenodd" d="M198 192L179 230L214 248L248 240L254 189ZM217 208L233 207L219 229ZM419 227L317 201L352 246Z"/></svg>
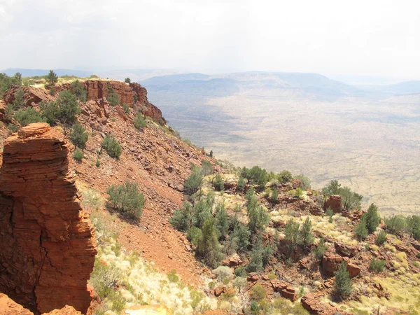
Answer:
<svg viewBox="0 0 420 315"><path fill-rule="evenodd" d="M0 169L0 291L36 313L85 313L97 253L69 172L69 144L48 124L6 139Z"/></svg>

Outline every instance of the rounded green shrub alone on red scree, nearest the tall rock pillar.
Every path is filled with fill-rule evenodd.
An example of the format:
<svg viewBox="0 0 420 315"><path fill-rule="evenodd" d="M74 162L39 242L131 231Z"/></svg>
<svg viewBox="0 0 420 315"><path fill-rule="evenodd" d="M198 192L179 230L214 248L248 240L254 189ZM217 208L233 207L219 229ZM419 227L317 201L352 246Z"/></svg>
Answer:
<svg viewBox="0 0 420 315"><path fill-rule="evenodd" d="M141 217L146 198L139 192L137 183L125 181L124 185L112 185L106 193L109 195L108 207L131 218Z"/></svg>

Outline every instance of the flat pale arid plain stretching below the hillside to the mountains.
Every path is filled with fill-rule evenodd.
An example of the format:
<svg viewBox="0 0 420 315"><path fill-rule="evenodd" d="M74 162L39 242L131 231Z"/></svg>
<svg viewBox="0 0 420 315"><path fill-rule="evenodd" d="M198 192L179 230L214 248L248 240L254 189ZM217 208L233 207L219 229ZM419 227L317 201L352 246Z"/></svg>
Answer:
<svg viewBox="0 0 420 315"><path fill-rule="evenodd" d="M420 212L420 95L334 102L267 90L150 97L183 137L218 158L289 169L313 188L337 179L386 215Z"/></svg>

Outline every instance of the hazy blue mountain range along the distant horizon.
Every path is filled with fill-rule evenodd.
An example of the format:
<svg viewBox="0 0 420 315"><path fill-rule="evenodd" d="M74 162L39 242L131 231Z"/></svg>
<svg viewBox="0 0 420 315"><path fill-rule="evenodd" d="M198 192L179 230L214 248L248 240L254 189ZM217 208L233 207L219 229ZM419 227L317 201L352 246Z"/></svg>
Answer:
<svg viewBox="0 0 420 315"><path fill-rule="evenodd" d="M22 76L45 76L49 69L10 68L2 70L8 76L16 72ZM96 74L102 78L124 80L131 78L150 90L225 96L237 92L263 96L304 97L335 101L339 97L369 97L383 99L394 95L420 93L420 80L391 85L350 85L317 73L283 73L248 71L207 75L179 73L172 69L115 69L104 71L54 69L58 76L87 77Z"/></svg>

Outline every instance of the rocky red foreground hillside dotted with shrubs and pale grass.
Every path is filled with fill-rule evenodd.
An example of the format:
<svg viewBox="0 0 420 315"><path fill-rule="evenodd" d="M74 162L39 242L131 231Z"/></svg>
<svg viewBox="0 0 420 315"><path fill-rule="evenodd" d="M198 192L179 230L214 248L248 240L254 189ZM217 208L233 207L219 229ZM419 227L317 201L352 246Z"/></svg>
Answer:
<svg viewBox="0 0 420 315"><path fill-rule="evenodd" d="M76 101L76 120L85 130L79 137L77 123L63 123L59 114L52 127L22 119L22 111L31 120L49 118L45 103L61 109L64 96L80 92L72 82L55 85L55 93L10 85L0 102L0 203L7 205L0 244L15 244L0 253L2 293L35 314L65 304L106 315L156 309L153 304L162 305L163 314L417 314L418 216L380 219L374 205L367 214L361 196L338 183L314 190L304 176L221 162L208 148L177 137L141 85L79 83L85 92ZM13 118L6 104L20 106ZM104 146L109 137L120 154ZM127 216L111 196L111 186L127 181L146 200L139 217ZM59 195L68 203L54 199ZM83 232L88 218L94 235ZM22 241L22 227L37 233L27 235L32 242ZM96 244L94 259L92 246L77 247L86 260L83 272L93 270L89 289L82 273L74 276L77 269L63 265L80 239ZM44 251L47 264L36 256ZM20 276L28 263L54 267L48 274L59 272L62 281L48 284L42 273ZM337 289L339 268L351 289ZM29 285L35 290L25 294ZM50 296L41 294L48 288ZM55 298L66 288L78 288L82 306L74 297ZM86 311L87 293L92 303ZM4 305L6 314L24 314L13 313L15 304L1 295Z"/></svg>

